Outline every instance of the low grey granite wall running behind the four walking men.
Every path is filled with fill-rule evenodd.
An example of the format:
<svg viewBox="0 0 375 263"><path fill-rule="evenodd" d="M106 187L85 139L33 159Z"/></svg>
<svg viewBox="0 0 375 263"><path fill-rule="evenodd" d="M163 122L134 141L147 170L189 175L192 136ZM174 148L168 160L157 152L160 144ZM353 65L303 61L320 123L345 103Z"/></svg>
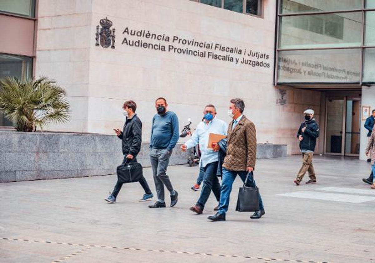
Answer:
<svg viewBox="0 0 375 263"><path fill-rule="evenodd" d="M189 153L179 145L171 165L187 164ZM115 174L123 159L121 140L102 134L0 131L0 150L0 183ZM286 153L286 145L258 145L257 158ZM137 159L150 167L148 143L142 143Z"/></svg>

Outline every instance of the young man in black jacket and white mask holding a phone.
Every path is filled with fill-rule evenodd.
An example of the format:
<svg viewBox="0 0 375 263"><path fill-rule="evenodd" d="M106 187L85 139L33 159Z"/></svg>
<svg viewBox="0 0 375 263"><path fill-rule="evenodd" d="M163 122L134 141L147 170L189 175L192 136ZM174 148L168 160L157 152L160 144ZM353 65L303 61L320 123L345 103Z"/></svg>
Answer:
<svg viewBox="0 0 375 263"><path fill-rule="evenodd" d="M137 105L134 101L125 101L123 109L124 115L126 115L126 121L123 131L120 131L120 129L114 129L117 137L122 140L122 153L124 154L123 163L136 162L136 156L141 150L142 122L135 113L136 108ZM150 187L148 187L147 181L143 176L141 180L139 180L139 183L145 191L145 194L139 201L147 201L153 198L154 195L152 194ZM123 183L117 181L112 193L110 193L111 195L108 196L108 198L105 198L105 201L109 203L115 203L116 197L118 195L118 192L120 192L122 184Z"/></svg>

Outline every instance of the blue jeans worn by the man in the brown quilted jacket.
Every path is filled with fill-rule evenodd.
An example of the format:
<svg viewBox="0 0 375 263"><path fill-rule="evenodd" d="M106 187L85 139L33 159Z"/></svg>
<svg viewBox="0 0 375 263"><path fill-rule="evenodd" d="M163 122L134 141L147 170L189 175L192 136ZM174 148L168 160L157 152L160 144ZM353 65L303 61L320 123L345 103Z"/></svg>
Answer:
<svg viewBox="0 0 375 263"><path fill-rule="evenodd" d="M221 194L220 194L220 203L219 203L219 210L217 213L225 214L228 211L229 207L229 198L232 191L232 185L234 179L236 179L237 174L240 176L241 180L245 183L246 175L248 174L247 171L229 171L223 167L223 181L221 183ZM255 187L255 183L252 180L253 173L249 174L248 183L246 186ZM262 198L259 193L259 209L263 210L263 202Z"/></svg>

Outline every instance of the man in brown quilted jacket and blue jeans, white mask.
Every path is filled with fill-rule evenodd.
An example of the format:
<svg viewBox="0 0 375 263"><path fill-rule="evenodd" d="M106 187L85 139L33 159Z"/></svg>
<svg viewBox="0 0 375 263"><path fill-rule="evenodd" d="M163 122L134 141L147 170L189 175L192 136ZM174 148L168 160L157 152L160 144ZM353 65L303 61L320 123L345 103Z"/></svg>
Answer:
<svg viewBox="0 0 375 263"><path fill-rule="evenodd" d="M255 159L257 156L257 135L255 125L245 115L245 103L240 98L232 99L228 108L228 115L233 119L228 126L226 156L223 162L223 179L220 193L219 210L213 216L208 216L212 221L225 221L225 213L228 211L229 196L232 191L232 184L239 175L245 182L248 178L247 186L255 187L253 180L253 171L255 168ZM214 151L218 151L219 145L216 145ZM259 210L250 218L258 219L264 215L262 198L259 194Z"/></svg>

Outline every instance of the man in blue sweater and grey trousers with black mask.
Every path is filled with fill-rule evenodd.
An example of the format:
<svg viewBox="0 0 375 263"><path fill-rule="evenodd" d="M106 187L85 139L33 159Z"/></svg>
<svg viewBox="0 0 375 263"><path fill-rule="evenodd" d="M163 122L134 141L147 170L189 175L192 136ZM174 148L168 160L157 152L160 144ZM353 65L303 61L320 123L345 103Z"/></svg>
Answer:
<svg viewBox="0 0 375 263"><path fill-rule="evenodd" d="M157 201L150 208L165 207L164 185L171 193L171 207L177 204L178 193L166 174L169 158L178 141L178 118L174 112L167 110L165 98L155 101L157 114L152 119L150 140L150 159L154 176Z"/></svg>

